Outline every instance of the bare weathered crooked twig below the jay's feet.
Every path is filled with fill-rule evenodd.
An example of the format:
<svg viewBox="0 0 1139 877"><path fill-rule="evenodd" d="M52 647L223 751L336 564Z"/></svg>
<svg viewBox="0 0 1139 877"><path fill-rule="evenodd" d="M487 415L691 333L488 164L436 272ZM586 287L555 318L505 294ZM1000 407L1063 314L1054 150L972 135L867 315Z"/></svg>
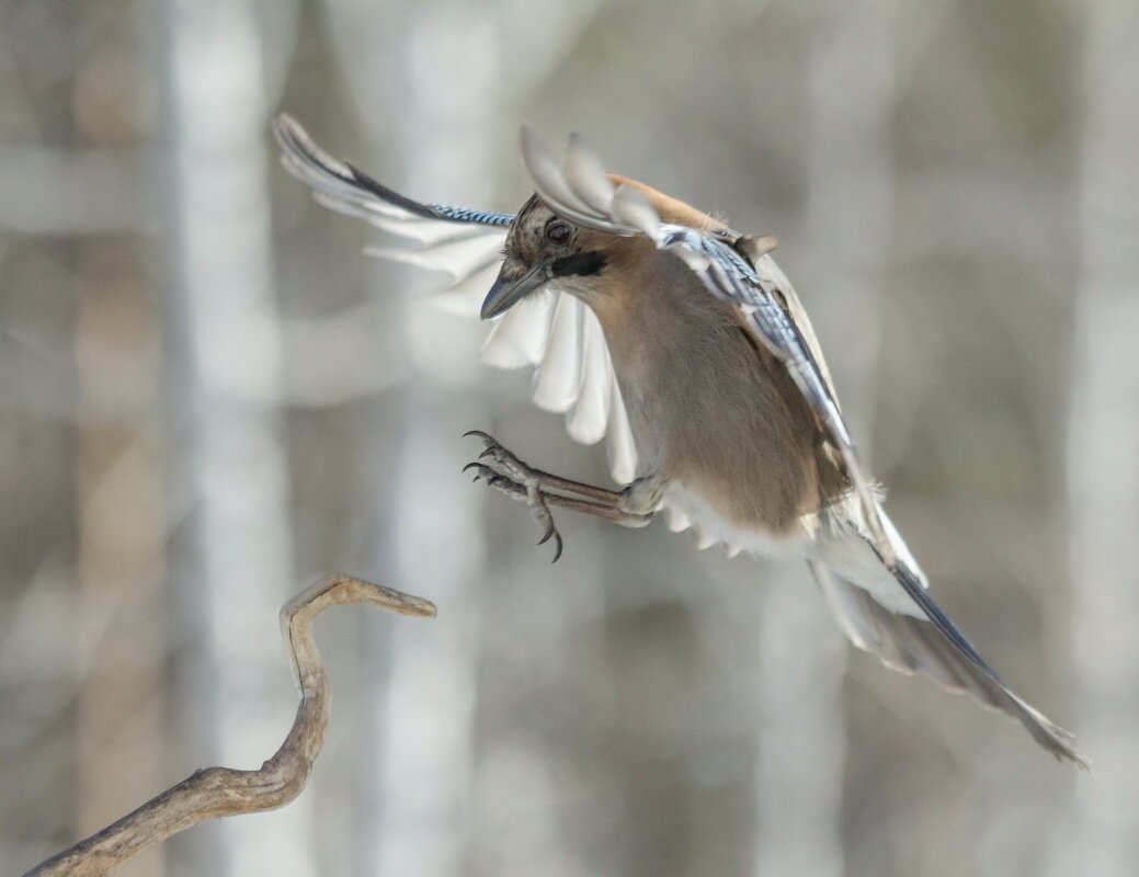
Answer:
<svg viewBox="0 0 1139 877"><path fill-rule="evenodd" d="M88 877L118 868L128 859L198 822L284 806L312 772L328 727L328 672L312 638L312 621L329 606L363 603L401 615L433 617L420 597L346 575L326 575L281 607L281 634L301 705L285 743L261 770L207 768L151 798L101 831L27 871L24 877Z"/></svg>

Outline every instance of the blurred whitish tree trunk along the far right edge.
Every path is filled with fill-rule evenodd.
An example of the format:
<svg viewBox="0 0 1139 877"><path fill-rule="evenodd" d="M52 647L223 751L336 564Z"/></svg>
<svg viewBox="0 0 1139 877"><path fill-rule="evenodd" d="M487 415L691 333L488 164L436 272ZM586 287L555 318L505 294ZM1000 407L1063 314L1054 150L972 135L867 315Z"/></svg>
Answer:
<svg viewBox="0 0 1139 877"><path fill-rule="evenodd" d="M1060 872L1123 877L1139 859L1139 6L1089 9L1084 50L1083 222L1068 431L1073 632L1080 744ZM1074 828L1074 830L1073 830Z"/></svg>

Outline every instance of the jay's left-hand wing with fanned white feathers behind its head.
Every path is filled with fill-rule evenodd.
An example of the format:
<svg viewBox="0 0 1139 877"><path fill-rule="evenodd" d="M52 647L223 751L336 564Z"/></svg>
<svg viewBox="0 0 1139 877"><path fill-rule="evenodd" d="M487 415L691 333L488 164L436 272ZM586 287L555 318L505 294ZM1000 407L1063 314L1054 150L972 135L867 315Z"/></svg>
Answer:
<svg viewBox="0 0 1139 877"><path fill-rule="evenodd" d="M490 213L420 204L375 181L317 146L286 115L273 121L285 167L313 189L318 202L415 241L408 249L367 252L448 274L450 284L428 298L452 313L477 317L498 276L502 246L514 220ZM636 477L637 451L605 336L593 312L549 286L493 321L484 362L499 368L535 366L533 396L541 408L564 412L570 435L584 444L608 437L613 477Z"/></svg>

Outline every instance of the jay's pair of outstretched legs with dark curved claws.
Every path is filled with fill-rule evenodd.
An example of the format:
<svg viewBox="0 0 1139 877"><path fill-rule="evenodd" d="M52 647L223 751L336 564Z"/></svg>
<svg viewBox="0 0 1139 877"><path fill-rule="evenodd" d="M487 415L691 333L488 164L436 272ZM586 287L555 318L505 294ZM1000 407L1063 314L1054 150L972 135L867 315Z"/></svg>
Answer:
<svg viewBox="0 0 1139 877"><path fill-rule="evenodd" d="M555 560L562 556L562 535L554 525L550 506L582 511L626 527L642 527L653 519L659 492L655 491L655 498L648 500L639 482L621 491L596 487L535 469L486 433L475 429L467 435L483 441L483 452L478 460L467 464L464 472L475 469L475 481L482 478L487 486L530 506L534 521L544 530L538 544L550 539L556 541ZM573 495L564 495L566 493Z"/></svg>

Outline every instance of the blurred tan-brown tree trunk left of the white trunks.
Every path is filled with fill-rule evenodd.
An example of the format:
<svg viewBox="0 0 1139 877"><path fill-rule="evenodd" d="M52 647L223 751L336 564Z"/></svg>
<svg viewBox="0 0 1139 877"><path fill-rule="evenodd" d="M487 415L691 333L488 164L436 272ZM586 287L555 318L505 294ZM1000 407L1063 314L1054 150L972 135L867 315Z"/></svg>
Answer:
<svg viewBox="0 0 1139 877"><path fill-rule="evenodd" d="M131 30L130 6L115 25ZM96 43L99 44L99 43ZM77 140L122 146L138 131L100 110L118 98L117 64L145 69L140 47L101 44L76 72L85 101ZM114 56L113 58L110 56ZM100 75L101 74L101 75ZM133 144L132 144L133 145ZM140 230L141 231L141 230ZM79 551L82 617L98 618L82 648L84 680L75 728L80 761L79 835L130 812L164 781L166 630L162 617L166 515L158 409L162 335L142 243L137 236L81 240L76 254L79 375ZM164 874L149 851L123 870Z"/></svg>

